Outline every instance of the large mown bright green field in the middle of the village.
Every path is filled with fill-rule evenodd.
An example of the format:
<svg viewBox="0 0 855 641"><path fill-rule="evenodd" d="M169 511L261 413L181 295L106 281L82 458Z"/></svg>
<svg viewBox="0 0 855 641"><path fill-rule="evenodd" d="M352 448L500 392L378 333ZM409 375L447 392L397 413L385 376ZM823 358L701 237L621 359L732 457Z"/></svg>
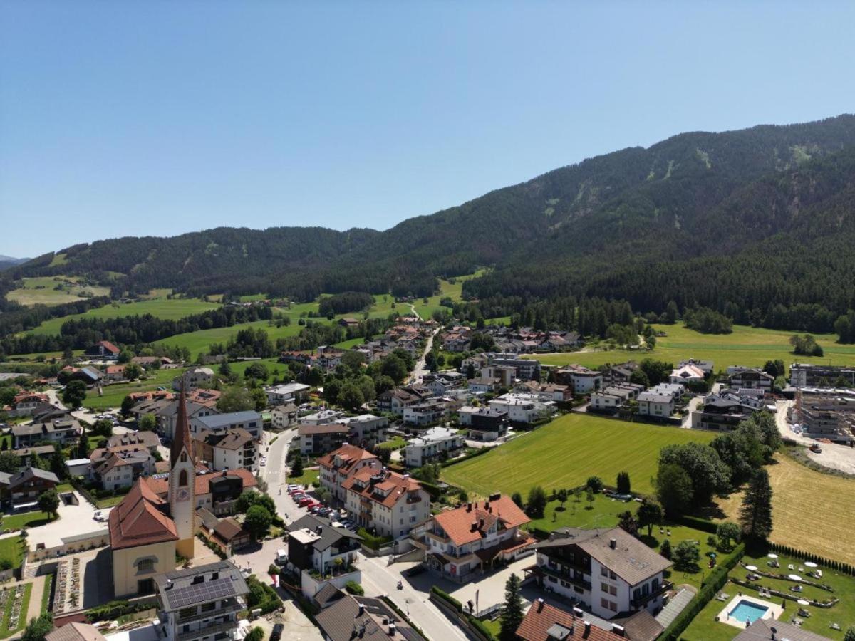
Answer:
<svg viewBox="0 0 855 641"><path fill-rule="evenodd" d="M497 491L518 491L525 496L533 485L543 485L546 490L571 488L592 475L614 485L617 473L626 471L635 491L649 493L663 445L709 443L715 436L569 414L489 454L445 468L442 479L481 496Z"/></svg>

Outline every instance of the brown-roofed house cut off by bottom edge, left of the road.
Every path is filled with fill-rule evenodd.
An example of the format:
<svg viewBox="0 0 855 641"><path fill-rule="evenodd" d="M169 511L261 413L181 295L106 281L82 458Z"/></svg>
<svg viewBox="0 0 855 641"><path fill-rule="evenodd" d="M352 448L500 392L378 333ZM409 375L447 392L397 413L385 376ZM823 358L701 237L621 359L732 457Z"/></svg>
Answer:
<svg viewBox="0 0 855 641"><path fill-rule="evenodd" d="M324 601L315 621L325 641L425 641L382 599L344 594Z"/></svg>

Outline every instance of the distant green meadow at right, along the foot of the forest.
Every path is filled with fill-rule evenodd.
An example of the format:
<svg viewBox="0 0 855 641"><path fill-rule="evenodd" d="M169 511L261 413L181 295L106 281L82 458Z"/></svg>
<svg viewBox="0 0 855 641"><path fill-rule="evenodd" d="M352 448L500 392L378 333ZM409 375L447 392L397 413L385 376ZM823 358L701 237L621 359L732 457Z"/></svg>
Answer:
<svg viewBox="0 0 855 641"><path fill-rule="evenodd" d="M577 362L589 368L607 362L624 362L630 359L638 361L646 357L675 364L690 357L711 360L715 363L716 370L727 369L728 365L763 367L766 361L775 359L781 359L787 366L795 360L826 365L855 365L855 345L835 343L836 334L814 335L817 343L823 347L824 356L796 357L791 353L792 348L788 342L794 332L734 325L734 331L729 334L702 334L687 329L680 323L655 327L668 335L657 338L656 349L652 351L582 351L532 357L551 365Z"/></svg>

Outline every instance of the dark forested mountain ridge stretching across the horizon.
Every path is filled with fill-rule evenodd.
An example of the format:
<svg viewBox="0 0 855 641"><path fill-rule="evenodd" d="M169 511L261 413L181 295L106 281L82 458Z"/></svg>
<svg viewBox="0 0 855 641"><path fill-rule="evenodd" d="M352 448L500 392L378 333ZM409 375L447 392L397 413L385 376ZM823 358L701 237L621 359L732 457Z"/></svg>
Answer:
<svg viewBox="0 0 855 641"><path fill-rule="evenodd" d="M41 256L11 276L121 273L117 289L313 298L424 296L435 277L493 269L464 294L501 306L614 297L758 321L855 307L855 116L692 132L597 156L386 232L219 228L118 238ZM239 212L236 212L239 218ZM9 273L7 272L7 273ZM5 275L5 274L4 274ZM115 279L115 274L110 278ZM824 315L816 310L811 314ZM759 321L758 321L759 322Z"/></svg>

